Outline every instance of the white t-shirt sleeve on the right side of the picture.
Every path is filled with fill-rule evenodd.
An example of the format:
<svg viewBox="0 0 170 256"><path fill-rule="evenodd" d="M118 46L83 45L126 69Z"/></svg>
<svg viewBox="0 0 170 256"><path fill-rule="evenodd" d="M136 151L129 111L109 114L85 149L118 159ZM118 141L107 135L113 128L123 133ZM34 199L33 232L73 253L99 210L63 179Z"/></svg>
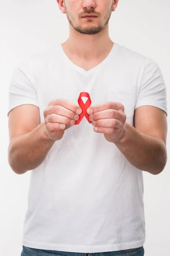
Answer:
<svg viewBox="0 0 170 256"><path fill-rule="evenodd" d="M167 114L167 91L164 78L158 64L147 59L142 76L135 109L141 106L154 106Z"/></svg>

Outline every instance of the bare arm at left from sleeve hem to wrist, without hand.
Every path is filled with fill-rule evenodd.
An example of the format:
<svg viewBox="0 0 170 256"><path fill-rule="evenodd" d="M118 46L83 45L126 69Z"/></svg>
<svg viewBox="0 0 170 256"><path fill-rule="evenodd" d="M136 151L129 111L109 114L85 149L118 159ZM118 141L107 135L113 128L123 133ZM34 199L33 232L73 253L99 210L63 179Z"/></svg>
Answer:
<svg viewBox="0 0 170 256"><path fill-rule="evenodd" d="M55 143L45 132L45 123L40 124L39 108L21 105L8 116L10 144L8 162L17 174L39 166Z"/></svg>

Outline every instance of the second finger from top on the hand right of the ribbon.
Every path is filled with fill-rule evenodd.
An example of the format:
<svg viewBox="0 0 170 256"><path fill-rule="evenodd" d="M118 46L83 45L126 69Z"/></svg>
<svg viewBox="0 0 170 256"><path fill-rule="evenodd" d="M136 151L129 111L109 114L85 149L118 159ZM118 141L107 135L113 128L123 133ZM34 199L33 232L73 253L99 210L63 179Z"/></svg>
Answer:
<svg viewBox="0 0 170 256"><path fill-rule="evenodd" d="M107 110L99 111L99 112L96 112L96 113L90 115L89 119L91 121L96 121L99 119L116 118L123 122L124 116L125 116L125 113L122 113L115 109L107 109Z"/></svg>

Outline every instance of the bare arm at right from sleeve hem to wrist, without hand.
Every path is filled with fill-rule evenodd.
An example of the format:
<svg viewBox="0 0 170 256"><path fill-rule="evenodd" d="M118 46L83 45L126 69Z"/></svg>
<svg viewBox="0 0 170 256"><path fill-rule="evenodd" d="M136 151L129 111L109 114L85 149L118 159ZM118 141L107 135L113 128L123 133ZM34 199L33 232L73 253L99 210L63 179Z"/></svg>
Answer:
<svg viewBox="0 0 170 256"><path fill-rule="evenodd" d="M152 106L135 110L135 128L125 123L124 136L115 145L136 168L159 174L167 162L167 116Z"/></svg>

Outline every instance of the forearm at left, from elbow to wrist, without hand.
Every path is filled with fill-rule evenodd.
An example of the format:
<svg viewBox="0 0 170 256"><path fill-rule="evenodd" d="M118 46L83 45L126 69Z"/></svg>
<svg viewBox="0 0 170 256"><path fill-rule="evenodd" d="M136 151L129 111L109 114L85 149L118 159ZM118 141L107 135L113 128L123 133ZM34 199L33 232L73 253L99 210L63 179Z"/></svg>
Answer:
<svg viewBox="0 0 170 256"><path fill-rule="evenodd" d="M45 133L44 122L33 131L14 137L8 147L8 162L14 172L23 174L38 167L55 143Z"/></svg>

